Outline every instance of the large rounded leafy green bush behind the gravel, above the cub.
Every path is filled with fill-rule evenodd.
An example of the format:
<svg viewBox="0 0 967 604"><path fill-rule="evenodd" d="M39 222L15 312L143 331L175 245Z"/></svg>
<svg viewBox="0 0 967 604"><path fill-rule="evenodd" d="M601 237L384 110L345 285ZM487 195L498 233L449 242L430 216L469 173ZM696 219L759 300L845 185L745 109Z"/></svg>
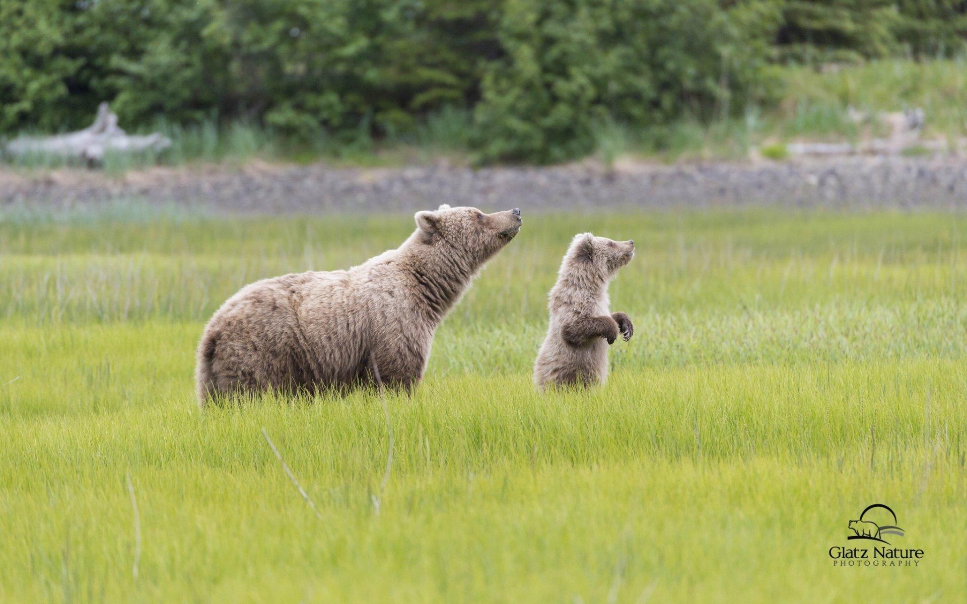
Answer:
<svg viewBox="0 0 967 604"><path fill-rule="evenodd" d="M742 110L768 89L766 45L748 26L712 0L509 0L507 54L488 64L475 112L480 157L559 161L590 152L609 119Z"/></svg>

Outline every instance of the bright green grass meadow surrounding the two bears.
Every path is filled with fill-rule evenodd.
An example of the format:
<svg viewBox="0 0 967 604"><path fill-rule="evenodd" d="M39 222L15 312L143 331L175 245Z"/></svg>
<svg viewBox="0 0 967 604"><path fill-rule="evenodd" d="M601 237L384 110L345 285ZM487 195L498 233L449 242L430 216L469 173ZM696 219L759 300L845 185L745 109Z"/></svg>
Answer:
<svg viewBox="0 0 967 604"><path fill-rule="evenodd" d="M410 216L2 218L0 601L967 593L967 216L525 212L389 426L373 392L199 411L193 353L240 286L362 262ZM611 286L635 335L603 387L541 395L584 230L638 246ZM918 566L833 565L870 503Z"/></svg>

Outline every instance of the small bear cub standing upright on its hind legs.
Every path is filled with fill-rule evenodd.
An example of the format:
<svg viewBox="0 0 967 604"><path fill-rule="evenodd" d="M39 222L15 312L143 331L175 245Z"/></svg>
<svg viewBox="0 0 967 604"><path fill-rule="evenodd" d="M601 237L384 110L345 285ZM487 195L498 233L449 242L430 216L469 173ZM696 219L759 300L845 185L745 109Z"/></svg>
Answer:
<svg viewBox="0 0 967 604"><path fill-rule="evenodd" d="M607 285L634 256L634 242L591 233L574 237L550 290L550 327L534 364L534 381L585 387L607 378L607 347L634 332L624 312L608 312Z"/></svg>

